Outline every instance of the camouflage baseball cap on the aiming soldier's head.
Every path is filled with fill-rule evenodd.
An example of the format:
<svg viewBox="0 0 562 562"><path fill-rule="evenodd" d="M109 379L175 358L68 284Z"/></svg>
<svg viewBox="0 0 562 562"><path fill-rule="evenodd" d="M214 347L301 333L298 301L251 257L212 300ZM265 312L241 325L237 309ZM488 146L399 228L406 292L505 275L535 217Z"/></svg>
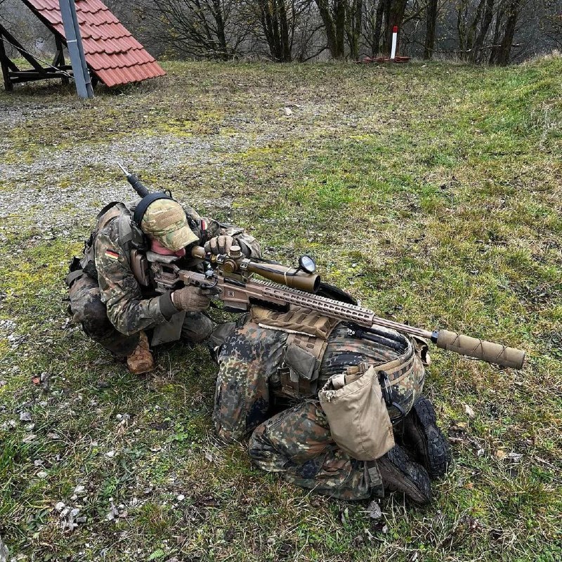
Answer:
<svg viewBox="0 0 562 562"><path fill-rule="evenodd" d="M151 203L145 211L141 228L171 251L181 250L199 240L189 228L181 204L171 199L159 199Z"/></svg>

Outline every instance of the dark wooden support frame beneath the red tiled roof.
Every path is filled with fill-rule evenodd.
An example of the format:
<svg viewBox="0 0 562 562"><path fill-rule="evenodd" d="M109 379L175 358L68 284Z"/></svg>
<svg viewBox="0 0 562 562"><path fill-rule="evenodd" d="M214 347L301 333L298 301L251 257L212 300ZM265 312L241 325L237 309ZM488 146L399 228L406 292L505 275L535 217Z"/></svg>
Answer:
<svg viewBox="0 0 562 562"><path fill-rule="evenodd" d="M69 76L72 76L72 66L65 63L63 39L58 34L53 33L53 35L55 36L55 46L57 48L55 58L51 66L44 66L44 63L41 63L41 61L25 50L22 44L6 30L6 27L0 25L0 67L4 75L6 91L12 91L14 84L35 80L60 78L63 84L68 84ZM30 70L20 70L13 60L8 57L5 41L13 46L32 65Z"/></svg>

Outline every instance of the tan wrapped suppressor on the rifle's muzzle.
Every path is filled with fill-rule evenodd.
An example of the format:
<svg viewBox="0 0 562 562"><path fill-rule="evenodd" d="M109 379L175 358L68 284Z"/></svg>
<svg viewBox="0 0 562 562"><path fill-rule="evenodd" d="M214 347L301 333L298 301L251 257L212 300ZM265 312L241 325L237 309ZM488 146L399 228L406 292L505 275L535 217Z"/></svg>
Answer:
<svg viewBox="0 0 562 562"><path fill-rule="evenodd" d="M455 351L461 355L469 355L469 357L514 369L521 369L525 362L525 351L521 349L493 344L491 341L471 338L456 332L449 332L446 329L440 329L436 336L436 338L431 338L433 342L447 351Z"/></svg>

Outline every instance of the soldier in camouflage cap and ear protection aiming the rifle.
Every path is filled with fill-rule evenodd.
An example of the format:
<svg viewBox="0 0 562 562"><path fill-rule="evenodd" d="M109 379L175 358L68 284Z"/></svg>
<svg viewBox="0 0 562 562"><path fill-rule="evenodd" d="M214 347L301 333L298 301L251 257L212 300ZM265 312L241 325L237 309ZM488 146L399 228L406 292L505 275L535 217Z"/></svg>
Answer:
<svg viewBox="0 0 562 562"><path fill-rule="evenodd" d="M196 344L212 332L207 295L197 287L159 294L150 277L151 252L181 263L190 244L214 254L237 244L244 254L260 256L258 242L242 228L207 221L159 192L102 209L84 256L71 263L66 283L73 320L115 358L126 358L133 373L154 368L149 344Z"/></svg>

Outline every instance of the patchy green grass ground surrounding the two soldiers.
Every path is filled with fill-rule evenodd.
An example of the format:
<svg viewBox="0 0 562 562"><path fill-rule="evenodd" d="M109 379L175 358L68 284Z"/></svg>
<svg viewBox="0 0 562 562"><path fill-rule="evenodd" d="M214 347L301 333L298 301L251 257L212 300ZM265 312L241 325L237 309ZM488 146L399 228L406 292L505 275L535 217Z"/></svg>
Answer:
<svg viewBox="0 0 562 562"><path fill-rule="evenodd" d="M0 122L0 171L63 151L70 162L54 178L48 166L27 179L3 174L0 196L122 183L103 163L72 164L73 151L105 154L112 142L155 138L204 144L174 165L141 159L135 171L203 213L245 226L274 259L310 252L327 280L380 315L518 346L528 364L499 370L433 350L426 393L455 463L431 506L384 499L378 525L366 503L311 495L251 469L243 444L218 443L215 367L202 348L167 346L154 375L133 377L67 322L67 261L103 197L88 200L89 222L61 205L48 221L67 217L70 235L54 240L44 240L22 204L0 223L0 320L16 322L19 343L0 326L0 536L11 554L120 562L561 558L562 59L500 69L166 70L164 79L120 92L98 89L91 102L58 84L0 92L0 105L27 115ZM288 104L290 117L282 112ZM119 157L136 155L123 148ZM32 415L32 429L21 411ZM86 493L72 500L77 485ZM110 498L124 506L112 521ZM60 501L86 522L64 531Z"/></svg>

